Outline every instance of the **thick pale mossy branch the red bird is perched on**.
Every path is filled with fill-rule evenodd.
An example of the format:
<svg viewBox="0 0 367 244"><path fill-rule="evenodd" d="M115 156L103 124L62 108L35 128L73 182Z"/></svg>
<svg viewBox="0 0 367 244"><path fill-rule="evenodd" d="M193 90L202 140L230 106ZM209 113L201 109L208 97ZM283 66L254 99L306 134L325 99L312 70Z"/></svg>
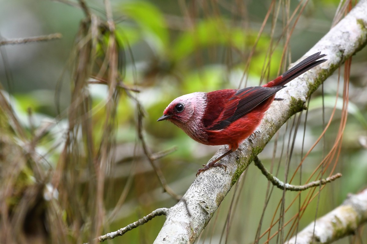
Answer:
<svg viewBox="0 0 367 244"><path fill-rule="evenodd" d="M304 102L317 87L346 59L363 48L367 42L367 0L361 0L352 11L331 29L300 60L321 51L327 54L325 63L313 68L278 92L282 102L274 102L252 139L245 140L237 151L225 157L227 166L212 168L196 178L178 202L168 210L166 222L154 243L193 243L208 224L232 185L247 168L254 155L259 154L276 131L295 113L304 109ZM226 151L222 147L214 158Z"/></svg>

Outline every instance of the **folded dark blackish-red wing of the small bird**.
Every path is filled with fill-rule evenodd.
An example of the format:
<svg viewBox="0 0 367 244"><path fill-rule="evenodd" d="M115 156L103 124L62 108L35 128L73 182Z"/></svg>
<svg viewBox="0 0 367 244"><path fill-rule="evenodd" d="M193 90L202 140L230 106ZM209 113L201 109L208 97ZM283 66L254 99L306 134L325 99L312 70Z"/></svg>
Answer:
<svg viewBox="0 0 367 244"><path fill-rule="evenodd" d="M208 125L209 130L220 130L226 128L230 123L245 116L266 99L274 95L285 86L263 87L253 86L237 90L224 104L224 109L217 119ZM213 93L216 91L213 91ZM211 94L208 93L208 98ZM214 94L215 95L215 94ZM210 108L207 108L210 113Z"/></svg>

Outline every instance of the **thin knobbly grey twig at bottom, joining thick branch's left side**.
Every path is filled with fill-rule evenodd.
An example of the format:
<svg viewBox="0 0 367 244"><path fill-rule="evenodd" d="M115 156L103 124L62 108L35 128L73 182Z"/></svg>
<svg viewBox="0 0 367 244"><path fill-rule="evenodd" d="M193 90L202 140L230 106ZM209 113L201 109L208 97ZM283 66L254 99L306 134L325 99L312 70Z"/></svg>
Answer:
<svg viewBox="0 0 367 244"><path fill-rule="evenodd" d="M107 233L107 234L105 234L103 236L99 236L98 237L98 241L99 242L103 242L105 240L113 239L113 238L115 238L117 236L122 236L123 234L125 234L129 230L132 230L134 228L137 228L140 225L145 224L146 222L148 222L149 220L152 220L156 216L167 215L167 212L168 212L168 209L165 208L165 207L163 207L161 209L156 209L152 213L146 215L145 217L139 219L138 221L135 221L134 223L131 223L131 224L127 225L124 228L121 228L121 229L116 230L114 232ZM85 243L85 244L88 244L88 243Z"/></svg>

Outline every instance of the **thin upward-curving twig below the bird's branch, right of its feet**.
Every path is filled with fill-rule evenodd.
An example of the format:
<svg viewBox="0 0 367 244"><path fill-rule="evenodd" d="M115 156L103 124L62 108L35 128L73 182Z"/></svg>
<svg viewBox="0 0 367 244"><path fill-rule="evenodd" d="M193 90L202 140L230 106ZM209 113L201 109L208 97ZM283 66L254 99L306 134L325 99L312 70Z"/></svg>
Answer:
<svg viewBox="0 0 367 244"><path fill-rule="evenodd" d="M282 190L285 189L286 191L304 191L308 188L317 187L320 185L326 185L327 183L330 183L331 181L334 181L342 176L341 173L337 173L337 174L334 174L333 176L327 177L326 179L312 181L305 185L291 185L291 184L282 182L277 177L270 174L269 171L265 169L264 165L261 164L260 159L257 156L254 158L254 163L261 170L261 173L266 176L266 179L268 179L277 188L282 189Z"/></svg>

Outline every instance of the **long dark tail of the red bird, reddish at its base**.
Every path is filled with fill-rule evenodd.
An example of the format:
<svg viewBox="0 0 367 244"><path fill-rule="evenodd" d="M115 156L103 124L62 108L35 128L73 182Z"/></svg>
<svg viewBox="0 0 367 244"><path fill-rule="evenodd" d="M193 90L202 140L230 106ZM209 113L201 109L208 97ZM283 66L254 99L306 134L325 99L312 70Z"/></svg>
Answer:
<svg viewBox="0 0 367 244"><path fill-rule="evenodd" d="M321 54L321 52L315 53L306 59L299 62L297 65L292 67L290 70L286 71L284 74L280 75L278 78L266 83L264 87L273 87L273 86L284 86L292 79L297 78L298 76L302 75L304 72L308 71L309 69L324 63L327 59L320 59L321 57L326 56L326 54Z"/></svg>

